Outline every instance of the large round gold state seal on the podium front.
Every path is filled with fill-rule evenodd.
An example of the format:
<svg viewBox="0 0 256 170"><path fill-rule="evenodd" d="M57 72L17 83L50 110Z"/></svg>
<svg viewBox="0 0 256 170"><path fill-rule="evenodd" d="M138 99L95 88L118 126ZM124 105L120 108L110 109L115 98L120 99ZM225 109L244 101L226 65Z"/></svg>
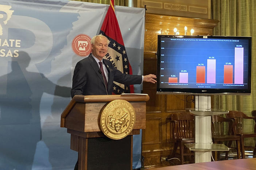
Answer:
<svg viewBox="0 0 256 170"><path fill-rule="evenodd" d="M135 111L125 100L113 100L102 110L100 129L110 139L122 139L133 129Z"/></svg>

